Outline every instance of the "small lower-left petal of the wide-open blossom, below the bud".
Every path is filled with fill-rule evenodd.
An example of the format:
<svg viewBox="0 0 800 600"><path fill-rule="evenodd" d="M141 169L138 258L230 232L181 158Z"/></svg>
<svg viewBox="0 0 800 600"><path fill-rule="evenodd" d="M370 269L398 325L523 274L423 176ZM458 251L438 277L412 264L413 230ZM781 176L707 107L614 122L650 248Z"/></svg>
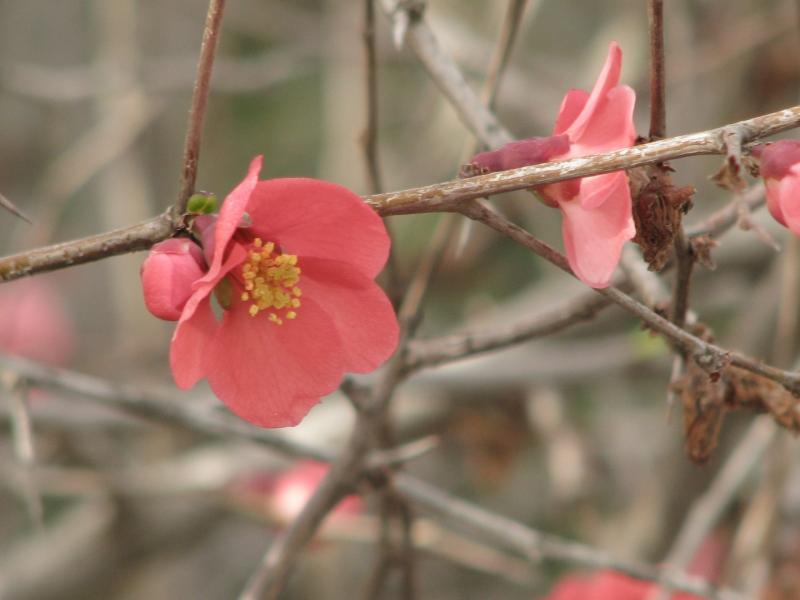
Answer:
<svg viewBox="0 0 800 600"><path fill-rule="evenodd" d="M172 334L169 363L179 388L188 390L206 377L203 359L218 327L208 294L200 297L191 314L178 322Z"/></svg>

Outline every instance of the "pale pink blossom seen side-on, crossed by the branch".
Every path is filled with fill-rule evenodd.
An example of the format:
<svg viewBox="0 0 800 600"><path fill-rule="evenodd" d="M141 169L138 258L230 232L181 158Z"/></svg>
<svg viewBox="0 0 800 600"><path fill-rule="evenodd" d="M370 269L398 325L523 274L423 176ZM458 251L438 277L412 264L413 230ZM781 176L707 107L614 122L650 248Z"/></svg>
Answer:
<svg viewBox="0 0 800 600"><path fill-rule="evenodd" d="M564 97L552 136L511 142L476 155L472 163L492 172L632 146L636 94L619 85L621 69L622 51L612 42L591 94L570 90ZM623 244L636 235L625 171L538 186L535 191L545 203L561 209L564 246L578 279L594 288L607 287Z"/></svg>

